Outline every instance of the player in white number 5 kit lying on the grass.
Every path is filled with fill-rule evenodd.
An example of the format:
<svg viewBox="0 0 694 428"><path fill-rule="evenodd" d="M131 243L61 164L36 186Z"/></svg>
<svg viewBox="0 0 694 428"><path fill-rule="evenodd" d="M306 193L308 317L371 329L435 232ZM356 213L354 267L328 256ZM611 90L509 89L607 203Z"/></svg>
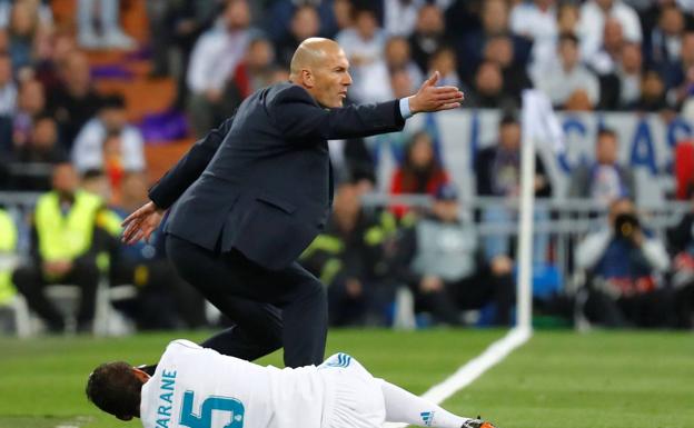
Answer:
<svg viewBox="0 0 694 428"><path fill-rule="evenodd" d="M336 354L320 366L261 367L188 340L169 344L149 374L107 362L87 382L87 397L145 428L380 428L384 421L434 428L494 428L374 378Z"/></svg>

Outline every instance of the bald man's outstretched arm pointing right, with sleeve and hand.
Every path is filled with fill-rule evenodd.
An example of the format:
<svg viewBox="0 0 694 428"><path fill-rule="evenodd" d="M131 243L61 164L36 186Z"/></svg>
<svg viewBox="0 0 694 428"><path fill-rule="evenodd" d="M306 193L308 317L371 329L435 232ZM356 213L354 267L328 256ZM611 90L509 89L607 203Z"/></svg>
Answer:
<svg viewBox="0 0 694 428"><path fill-rule="evenodd" d="M434 73L416 94L403 102L393 100L338 109L323 109L304 88L291 86L270 103L270 116L282 135L295 139L346 139L399 131L407 116L460 107L463 93L455 87L436 87L438 73Z"/></svg>

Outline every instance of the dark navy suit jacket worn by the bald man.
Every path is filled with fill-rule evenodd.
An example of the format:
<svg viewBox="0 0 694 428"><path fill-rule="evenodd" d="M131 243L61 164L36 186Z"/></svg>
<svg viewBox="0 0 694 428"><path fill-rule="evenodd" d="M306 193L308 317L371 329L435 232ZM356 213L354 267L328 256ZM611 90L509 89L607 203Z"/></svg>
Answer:
<svg viewBox="0 0 694 428"><path fill-rule="evenodd" d="M324 109L301 87L248 97L198 141L149 197L174 202L165 231L210 250L236 248L268 269L294 262L325 227L333 200L329 139L397 131L397 100Z"/></svg>

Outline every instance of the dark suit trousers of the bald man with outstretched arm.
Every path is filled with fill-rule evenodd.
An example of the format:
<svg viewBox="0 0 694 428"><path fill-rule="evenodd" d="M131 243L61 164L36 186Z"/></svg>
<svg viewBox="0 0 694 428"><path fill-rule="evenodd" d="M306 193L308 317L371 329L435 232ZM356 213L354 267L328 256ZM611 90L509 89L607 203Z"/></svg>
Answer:
<svg viewBox="0 0 694 428"><path fill-rule="evenodd" d="M245 360L284 347L287 367L323 362L326 289L298 262L269 270L236 249L211 251L172 235L166 250L178 273L234 322L204 347Z"/></svg>

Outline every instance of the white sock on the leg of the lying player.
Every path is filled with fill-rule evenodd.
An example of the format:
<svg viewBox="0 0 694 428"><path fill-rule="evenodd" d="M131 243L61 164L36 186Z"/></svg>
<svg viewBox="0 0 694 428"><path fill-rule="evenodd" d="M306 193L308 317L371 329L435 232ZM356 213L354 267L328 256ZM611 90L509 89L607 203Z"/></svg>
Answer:
<svg viewBox="0 0 694 428"><path fill-rule="evenodd" d="M460 428L468 420L383 379L386 421L433 428Z"/></svg>

